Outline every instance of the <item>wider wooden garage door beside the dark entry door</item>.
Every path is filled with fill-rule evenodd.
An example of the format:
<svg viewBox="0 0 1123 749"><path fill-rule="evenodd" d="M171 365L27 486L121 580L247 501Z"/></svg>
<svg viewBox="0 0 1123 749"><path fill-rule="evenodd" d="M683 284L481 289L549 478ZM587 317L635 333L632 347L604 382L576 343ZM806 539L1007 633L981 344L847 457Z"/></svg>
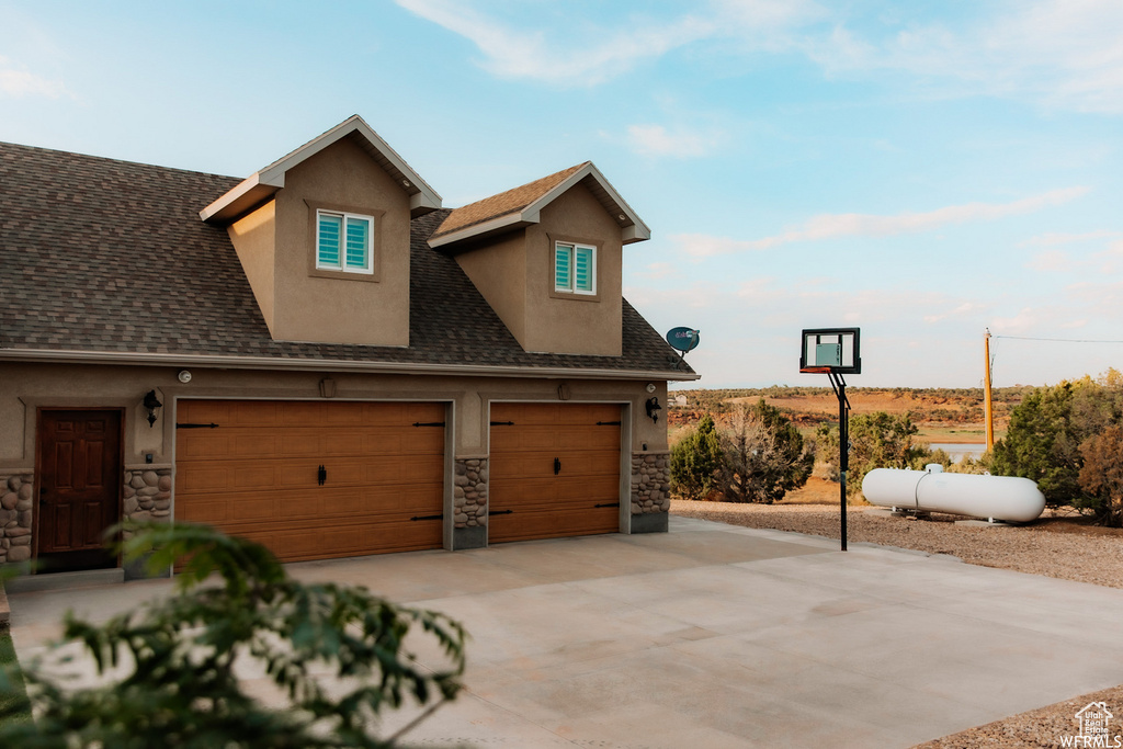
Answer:
<svg viewBox="0 0 1123 749"><path fill-rule="evenodd" d="M439 403L180 401L175 420L177 520L285 561L441 546Z"/></svg>

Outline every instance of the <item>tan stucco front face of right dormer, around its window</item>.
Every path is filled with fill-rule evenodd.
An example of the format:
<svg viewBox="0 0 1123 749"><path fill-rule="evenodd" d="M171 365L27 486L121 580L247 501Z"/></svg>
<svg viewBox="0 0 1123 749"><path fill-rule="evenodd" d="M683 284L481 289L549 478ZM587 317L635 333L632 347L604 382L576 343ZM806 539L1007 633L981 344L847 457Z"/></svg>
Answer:
<svg viewBox="0 0 1123 749"><path fill-rule="evenodd" d="M596 294L554 292L554 244L596 246ZM527 229L527 316L520 339L530 351L550 354L621 353L620 227L582 185L542 209L541 221Z"/></svg>

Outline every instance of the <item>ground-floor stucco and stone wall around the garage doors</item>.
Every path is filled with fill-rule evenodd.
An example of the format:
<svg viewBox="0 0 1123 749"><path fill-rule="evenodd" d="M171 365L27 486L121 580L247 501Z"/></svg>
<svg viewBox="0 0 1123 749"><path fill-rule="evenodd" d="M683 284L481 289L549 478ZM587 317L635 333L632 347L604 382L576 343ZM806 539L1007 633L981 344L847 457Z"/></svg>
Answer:
<svg viewBox="0 0 1123 749"><path fill-rule="evenodd" d="M181 369L191 372L188 384ZM659 460L665 460L665 411L652 421L645 402L657 398L665 405L666 383L643 380L550 380L453 375L356 374L331 372L275 372L218 369L201 366L109 366L0 363L0 477L16 477L15 492L4 494L0 548L34 544L34 523L19 491L36 481L38 409L119 408L125 412L122 446L122 509L126 517L174 518L175 407L180 399L320 400L321 382L334 384L334 400L437 401L448 404L448 454L445 467L447 548L469 548L486 538L490 409L497 401L619 403L622 409L621 486L623 512L632 515L665 512ZM163 401L156 423L148 426L140 402L155 390ZM647 456L655 456L647 459ZM650 464L650 465L648 465ZM647 465L645 468L643 466ZM637 473L637 466L640 469ZM640 481L633 481L634 476ZM171 494L170 494L171 491ZM12 496L7 496L12 494ZM18 499L13 499L18 497ZM28 500L29 501L29 500ZM25 515L19 513L26 511ZM627 517L627 514L624 515ZM0 520L3 520L0 518ZM650 523L648 523L650 524ZM665 526L665 523L664 523ZM10 528L9 528L10 527ZM627 526L623 526L627 528ZM637 527L640 530L646 526ZM660 526L661 528L661 526ZM454 532L455 531L455 532ZM456 536L466 532L467 535ZM9 538L4 546L3 538ZM27 540L15 540L15 539ZM33 547L34 548L34 547ZM22 555L16 551L15 556ZM9 559L12 556L9 551Z"/></svg>

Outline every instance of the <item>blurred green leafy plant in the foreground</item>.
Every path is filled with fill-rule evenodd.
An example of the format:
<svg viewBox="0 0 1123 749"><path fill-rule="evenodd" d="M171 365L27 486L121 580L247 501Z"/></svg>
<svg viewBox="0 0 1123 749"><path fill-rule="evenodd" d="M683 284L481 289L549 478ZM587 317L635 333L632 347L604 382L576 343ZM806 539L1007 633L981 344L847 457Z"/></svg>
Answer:
<svg viewBox="0 0 1123 749"><path fill-rule="evenodd" d="M201 526L147 526L122 549L154 572L183 564L177 593L102 625L67 615L65 639L109 683L71 689L27 664L36 720L0 728L0 746L392 747L396 736L376 734L380 713L416 701L423 716L460 688L465 633L442 614L295 582L264 547ZM412 663L413 625L447 668ZM243 689L235 672L247 660L264 665L275 706ZM119 667L127 675L113 678Z"/></svg>

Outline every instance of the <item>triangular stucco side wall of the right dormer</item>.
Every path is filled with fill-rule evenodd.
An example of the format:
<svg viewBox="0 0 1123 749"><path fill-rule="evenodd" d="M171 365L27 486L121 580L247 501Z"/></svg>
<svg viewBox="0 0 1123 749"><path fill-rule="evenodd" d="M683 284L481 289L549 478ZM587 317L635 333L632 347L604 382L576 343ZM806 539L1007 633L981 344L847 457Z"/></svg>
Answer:
<svg viewBox="0 0 1123 749"><path fill-rule="evenodd" d="M524 232L514 231L486 247L456 256L460 268L523 348L528 293L524 248Z"/></svg>

